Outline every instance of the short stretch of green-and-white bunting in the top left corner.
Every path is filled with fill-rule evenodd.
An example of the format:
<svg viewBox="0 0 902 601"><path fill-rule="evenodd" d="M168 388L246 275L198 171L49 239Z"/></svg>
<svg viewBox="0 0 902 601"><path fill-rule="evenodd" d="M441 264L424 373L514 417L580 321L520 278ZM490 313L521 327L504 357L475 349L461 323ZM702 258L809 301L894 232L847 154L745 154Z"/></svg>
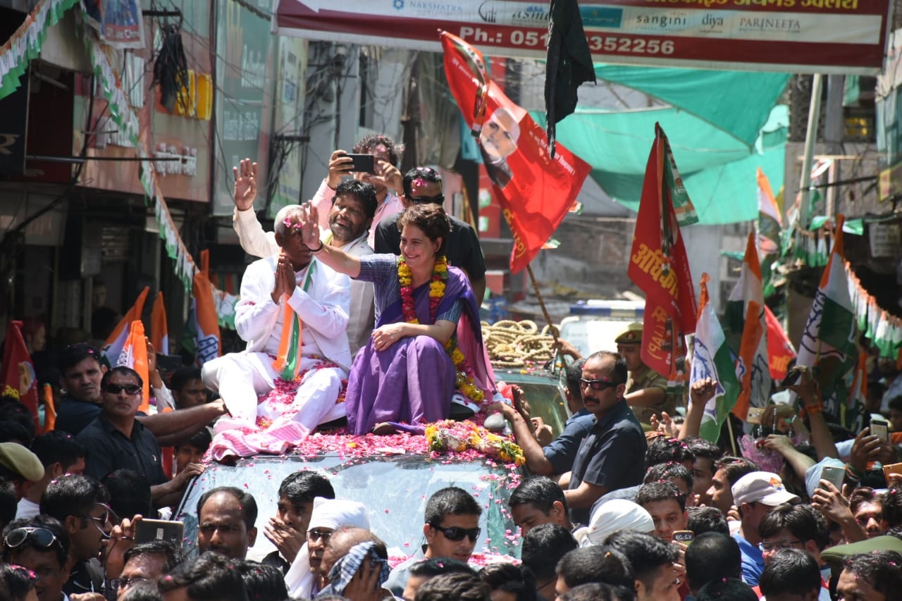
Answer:
<svg viewBox="0 0 902 601"><path fill-rule="evenodd" d="M47 30L60 22L62 15L78 0L41 0L25 17L9 40L0 46L0 98L19 88L25 69L41 52Z"/></svg>

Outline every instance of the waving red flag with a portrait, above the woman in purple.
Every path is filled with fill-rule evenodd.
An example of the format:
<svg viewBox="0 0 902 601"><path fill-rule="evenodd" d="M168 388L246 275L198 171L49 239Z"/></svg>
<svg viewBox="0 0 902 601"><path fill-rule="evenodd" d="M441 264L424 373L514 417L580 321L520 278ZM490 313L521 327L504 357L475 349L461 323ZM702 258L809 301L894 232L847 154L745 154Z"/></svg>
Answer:
<svg viewBox="0 0 902 601"><path fill-rule="evenodd" d="M548 156L545 131L489 79L483 55L451 33L441 40L451 93L479 136L492 198L511 225L511 272L518 273L563 221L591 168L559 143L555 158Z"/></svg>

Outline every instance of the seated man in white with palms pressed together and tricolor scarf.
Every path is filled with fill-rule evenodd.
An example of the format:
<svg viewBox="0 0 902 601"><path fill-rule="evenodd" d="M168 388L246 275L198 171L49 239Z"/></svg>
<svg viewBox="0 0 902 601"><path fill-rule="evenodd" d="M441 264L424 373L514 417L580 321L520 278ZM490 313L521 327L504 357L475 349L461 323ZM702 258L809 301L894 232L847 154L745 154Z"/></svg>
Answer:
<svg viewBox="0 0 902 601"><path fill-rule="evenodd" d="M288 415L313 430L345 415L336 400L351 364L350 281L318 263L303 244L299 209L290 205L276 216L280 253L244 272L235 329L247 349L203 366L204 384L220 394L231 413L216 422L217 432L259 429ZM274 400L270 395L258 407L258 396L275 389L280 379L299 381L297 393L286 399L276 394Z"/></svg>

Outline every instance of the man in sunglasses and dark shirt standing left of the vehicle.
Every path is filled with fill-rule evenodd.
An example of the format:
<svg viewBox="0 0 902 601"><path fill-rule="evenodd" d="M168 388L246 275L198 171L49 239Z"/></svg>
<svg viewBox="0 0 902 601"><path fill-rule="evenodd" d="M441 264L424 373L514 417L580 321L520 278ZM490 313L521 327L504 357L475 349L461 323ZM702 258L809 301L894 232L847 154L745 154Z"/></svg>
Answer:
<svg viewBox="0 0 902 601"><path fill-rule="evenodd" d="M189 464L172 480L166 477L157 439L135 419L142 386L141 376L129 367L107 371L100 381L100 415L78 434L78 442L87 450L85 474L99 480L117 469L132 469L147 478L154 506L163 507L178 503L189 479L204 468Z"/></svg>

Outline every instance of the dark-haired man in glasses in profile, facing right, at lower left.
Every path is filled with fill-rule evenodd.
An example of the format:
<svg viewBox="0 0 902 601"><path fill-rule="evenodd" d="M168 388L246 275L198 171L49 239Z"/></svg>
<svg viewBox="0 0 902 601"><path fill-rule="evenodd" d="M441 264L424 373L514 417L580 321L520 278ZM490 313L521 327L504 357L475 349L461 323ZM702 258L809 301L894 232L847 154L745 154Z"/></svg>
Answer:
<svg viewBox="0 0 902 601"><path fill-rule="evenodd" d="M109 493L89 476L67 474L47 485L41 496L41 515L58 520L69 541L67 595L99 593L104 587L100 550L116 521L109 508Z"/></svg>

